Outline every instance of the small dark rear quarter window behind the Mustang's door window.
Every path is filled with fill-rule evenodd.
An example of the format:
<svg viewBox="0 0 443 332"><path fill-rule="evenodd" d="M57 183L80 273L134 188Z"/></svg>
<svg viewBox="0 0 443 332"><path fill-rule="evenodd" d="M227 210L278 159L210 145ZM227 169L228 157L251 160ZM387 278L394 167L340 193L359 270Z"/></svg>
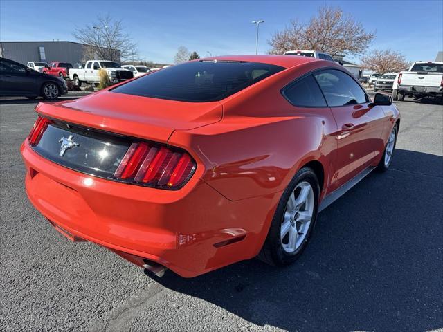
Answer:
<svg viewBox="0 0 443 332"><path fill-rule="evenodd" d="M283 91L291 104L300 107L327 107L325 98L312 75L296 80Z"/></svg>

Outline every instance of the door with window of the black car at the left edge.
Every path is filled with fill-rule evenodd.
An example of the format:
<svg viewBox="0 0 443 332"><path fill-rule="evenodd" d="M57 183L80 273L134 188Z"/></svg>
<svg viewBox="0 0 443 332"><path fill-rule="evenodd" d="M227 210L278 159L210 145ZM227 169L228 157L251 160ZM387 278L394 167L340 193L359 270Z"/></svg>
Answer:
<svg viewBox="0 0 443 332"><path fill-rule="evenodd" d="M35 77L26 71L26 66L0 59L0 90L2 95L34 95Z"/></svg>

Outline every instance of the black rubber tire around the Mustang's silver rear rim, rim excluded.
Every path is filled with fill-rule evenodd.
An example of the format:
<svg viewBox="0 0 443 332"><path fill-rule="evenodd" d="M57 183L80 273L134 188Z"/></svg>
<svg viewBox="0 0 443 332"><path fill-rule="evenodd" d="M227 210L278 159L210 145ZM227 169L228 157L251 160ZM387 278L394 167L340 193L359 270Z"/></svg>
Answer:
<svg viewBox="0 0 443 332"><path fill-rule="evenodd" d="M286 250L284 250L282 239L280 237L282 221L284 220L284 214L287 211L289 196L293 193L297 185L302 182L307 182L312 187L314 192L314 210L305 239L302 240L299 248L292 253L288 253ZM296 259L302 255L302 252L305 250L309 239L311 239L312 230L314 229L314 225L316 223L319 193L320 186L318 185L318 179L314 171L309 167L303 167L300 169L293 177L286 190L284 190L282 197L280 198L277 210L275 210L275 214L271 222L271 227L269 228L268 235L264 241L263 248L260 251L260 254L257 256L258 259L273 266L285 266L293 263L293 261L296 261Z"/></svg>

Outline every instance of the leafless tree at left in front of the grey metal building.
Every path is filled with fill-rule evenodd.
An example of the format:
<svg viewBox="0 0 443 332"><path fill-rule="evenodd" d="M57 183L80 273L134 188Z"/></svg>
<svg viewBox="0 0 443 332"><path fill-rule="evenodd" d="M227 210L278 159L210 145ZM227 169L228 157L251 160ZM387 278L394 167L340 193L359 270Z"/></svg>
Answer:
<svg viewBox="0 0 443 332"><path fill-rule="evenodd" d="M122 21L115 21L109 15L98 16L97 21L84 27L75 27L73 36L84 46L87 59L106 59L120 62L138 54L138 45L125 33Z"/></svg>

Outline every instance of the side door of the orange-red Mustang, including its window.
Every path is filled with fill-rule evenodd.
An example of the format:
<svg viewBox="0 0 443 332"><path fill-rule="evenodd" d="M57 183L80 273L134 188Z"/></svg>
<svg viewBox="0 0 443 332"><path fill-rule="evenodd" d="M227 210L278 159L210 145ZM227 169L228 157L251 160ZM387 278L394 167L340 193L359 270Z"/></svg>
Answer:
<svg viewBox="0 0 443 332"><path fill-rule="evenodd" d="M383 144L383 109L374 106L354 78L338 69L314 74L337 124L337 159L331 190L367 168Z"/></svg>

